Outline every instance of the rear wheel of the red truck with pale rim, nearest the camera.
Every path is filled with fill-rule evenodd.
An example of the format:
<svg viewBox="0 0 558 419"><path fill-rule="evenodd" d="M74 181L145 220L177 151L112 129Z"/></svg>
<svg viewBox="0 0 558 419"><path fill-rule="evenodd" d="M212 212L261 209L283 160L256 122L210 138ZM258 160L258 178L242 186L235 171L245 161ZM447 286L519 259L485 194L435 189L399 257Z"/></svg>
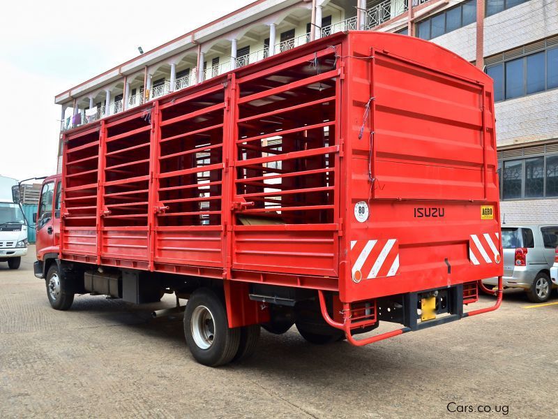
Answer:
<svg viewBox="0 0 558 419"><path fill-rule="evenodd" d="M229 328L225 304L209 288L197 289L184 310L184 336L197 362L227 364L239 351L240 328Z"/></svg>

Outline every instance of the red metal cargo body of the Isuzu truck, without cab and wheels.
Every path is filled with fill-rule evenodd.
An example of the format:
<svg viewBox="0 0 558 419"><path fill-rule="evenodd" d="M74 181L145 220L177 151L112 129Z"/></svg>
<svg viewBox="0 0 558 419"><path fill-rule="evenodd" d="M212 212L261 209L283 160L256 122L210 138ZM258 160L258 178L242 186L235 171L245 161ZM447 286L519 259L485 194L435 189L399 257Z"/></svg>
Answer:
<svg viewBox="0 0 558 419"><path fill-rule="evenodd" d="M344 304L502 275L469 259L500 231L492 81L417 38L335 34L237 68L68 131L63 162L68 260Z"/></svg>

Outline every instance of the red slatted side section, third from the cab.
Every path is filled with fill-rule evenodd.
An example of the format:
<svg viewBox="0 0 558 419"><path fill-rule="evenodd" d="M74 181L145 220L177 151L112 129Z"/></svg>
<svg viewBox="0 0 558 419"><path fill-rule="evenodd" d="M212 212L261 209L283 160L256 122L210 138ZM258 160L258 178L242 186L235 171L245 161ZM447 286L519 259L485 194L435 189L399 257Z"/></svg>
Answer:
<svg viewBox="0 0 558 419"><path fill-rule="evenodd" d="M161 107L153 242L158 270L211 267L223 277L225 112L221 84Z"/></svg>

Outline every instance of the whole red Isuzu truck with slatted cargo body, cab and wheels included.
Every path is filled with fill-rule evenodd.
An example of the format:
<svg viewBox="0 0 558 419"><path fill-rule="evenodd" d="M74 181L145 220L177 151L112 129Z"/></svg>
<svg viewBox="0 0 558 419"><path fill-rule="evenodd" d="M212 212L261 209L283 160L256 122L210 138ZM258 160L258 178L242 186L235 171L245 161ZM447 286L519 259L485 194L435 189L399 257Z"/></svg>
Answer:
<svg viewBox="0 0 558 419"><path fill-rule="evenodd" d="M488 75L335 34L63 133L35 273L59 310L188 300L204 365L250 355L260 325L361 346L499 307L498 197ZM494 307L465 312L488 277ZM400 326L355 337L380 321Z"/></svg>

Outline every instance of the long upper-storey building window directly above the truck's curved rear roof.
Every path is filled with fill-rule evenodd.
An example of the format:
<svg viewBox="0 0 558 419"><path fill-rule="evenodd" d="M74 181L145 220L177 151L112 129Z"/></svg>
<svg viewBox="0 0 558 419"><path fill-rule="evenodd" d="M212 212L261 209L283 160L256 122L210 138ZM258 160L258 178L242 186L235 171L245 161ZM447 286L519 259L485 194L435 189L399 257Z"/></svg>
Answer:
<svg viewBox="0 0 558 419"><path fill-rule="evenodd" d="M476 0L468 0L418 23L417 36L432 39L476 22Z"/></svg>

